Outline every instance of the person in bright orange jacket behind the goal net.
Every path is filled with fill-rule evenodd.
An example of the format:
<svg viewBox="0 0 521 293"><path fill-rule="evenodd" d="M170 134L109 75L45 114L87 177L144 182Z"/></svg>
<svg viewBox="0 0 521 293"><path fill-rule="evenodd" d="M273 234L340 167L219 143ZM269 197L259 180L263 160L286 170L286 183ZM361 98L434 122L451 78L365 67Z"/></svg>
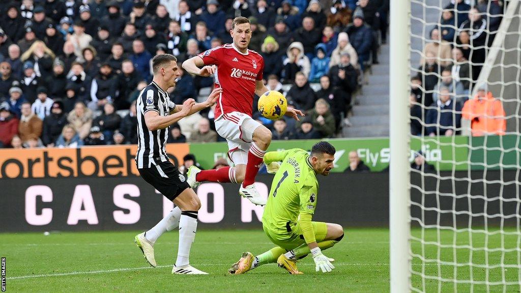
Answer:
<svg viewBox="0 0 521 293"><path fill-rule="evenodd" d="M463 105L462 117L470 120L472 136L504 135L506 130L505 110L500 100L495 99L486 86L480 86L474 99Z"/></svg>

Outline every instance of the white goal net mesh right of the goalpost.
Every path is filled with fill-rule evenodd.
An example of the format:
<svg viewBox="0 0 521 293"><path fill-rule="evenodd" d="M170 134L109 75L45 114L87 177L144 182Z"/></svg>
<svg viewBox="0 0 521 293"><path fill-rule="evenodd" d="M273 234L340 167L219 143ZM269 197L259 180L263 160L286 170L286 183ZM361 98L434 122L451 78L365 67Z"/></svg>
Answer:
<svg viewBox="0 0 521 293"><path fill-rule="evenodd" d="M411 1L414 292L521 291L520 9Z"/></svg>

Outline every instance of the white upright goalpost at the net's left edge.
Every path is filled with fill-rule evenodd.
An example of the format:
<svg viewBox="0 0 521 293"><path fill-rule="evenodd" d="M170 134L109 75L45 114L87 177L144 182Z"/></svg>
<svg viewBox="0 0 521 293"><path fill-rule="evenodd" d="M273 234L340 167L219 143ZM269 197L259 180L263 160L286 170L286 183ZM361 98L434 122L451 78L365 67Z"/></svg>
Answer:
<svg viewBox="0 0 521 293"><path fill-rule="evenodd" d="M411 0L390 3L389 72L389 250L390 291L410 292L410 23Z"/></svg>

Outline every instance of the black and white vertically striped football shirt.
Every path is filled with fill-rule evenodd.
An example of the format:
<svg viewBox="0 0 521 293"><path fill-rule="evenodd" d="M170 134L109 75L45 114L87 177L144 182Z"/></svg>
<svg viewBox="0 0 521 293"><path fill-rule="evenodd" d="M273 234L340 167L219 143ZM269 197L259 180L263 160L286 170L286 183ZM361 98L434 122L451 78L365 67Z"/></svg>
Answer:
<svg viewBox="0 0 521 293"><path fill-rule="evenodd" d="M154 81L139 94L135 105L138 114L138 152L135 155L135 162L139 169L150 168L152 164L168 161L166 154L168 128L148 130L145 113L156 111L161 116L167 116L175 106L176 104L170 101L168 93L159 88Z"/></svg>

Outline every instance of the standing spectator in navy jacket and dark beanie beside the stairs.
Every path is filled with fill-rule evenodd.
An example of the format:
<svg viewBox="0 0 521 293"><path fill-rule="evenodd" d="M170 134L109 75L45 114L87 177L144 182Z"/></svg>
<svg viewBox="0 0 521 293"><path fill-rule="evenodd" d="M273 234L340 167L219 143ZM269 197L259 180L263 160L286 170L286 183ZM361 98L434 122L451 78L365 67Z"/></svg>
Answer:
<svg viewBox="0 0 521 293"><path fill-rule="evenodd" d="M369 61L373 48L373 31L364 25L364 13L357 9L353 14L353 25L346 28L349 40L356 50L360 68L364 70L364 62Z"/></svg>

